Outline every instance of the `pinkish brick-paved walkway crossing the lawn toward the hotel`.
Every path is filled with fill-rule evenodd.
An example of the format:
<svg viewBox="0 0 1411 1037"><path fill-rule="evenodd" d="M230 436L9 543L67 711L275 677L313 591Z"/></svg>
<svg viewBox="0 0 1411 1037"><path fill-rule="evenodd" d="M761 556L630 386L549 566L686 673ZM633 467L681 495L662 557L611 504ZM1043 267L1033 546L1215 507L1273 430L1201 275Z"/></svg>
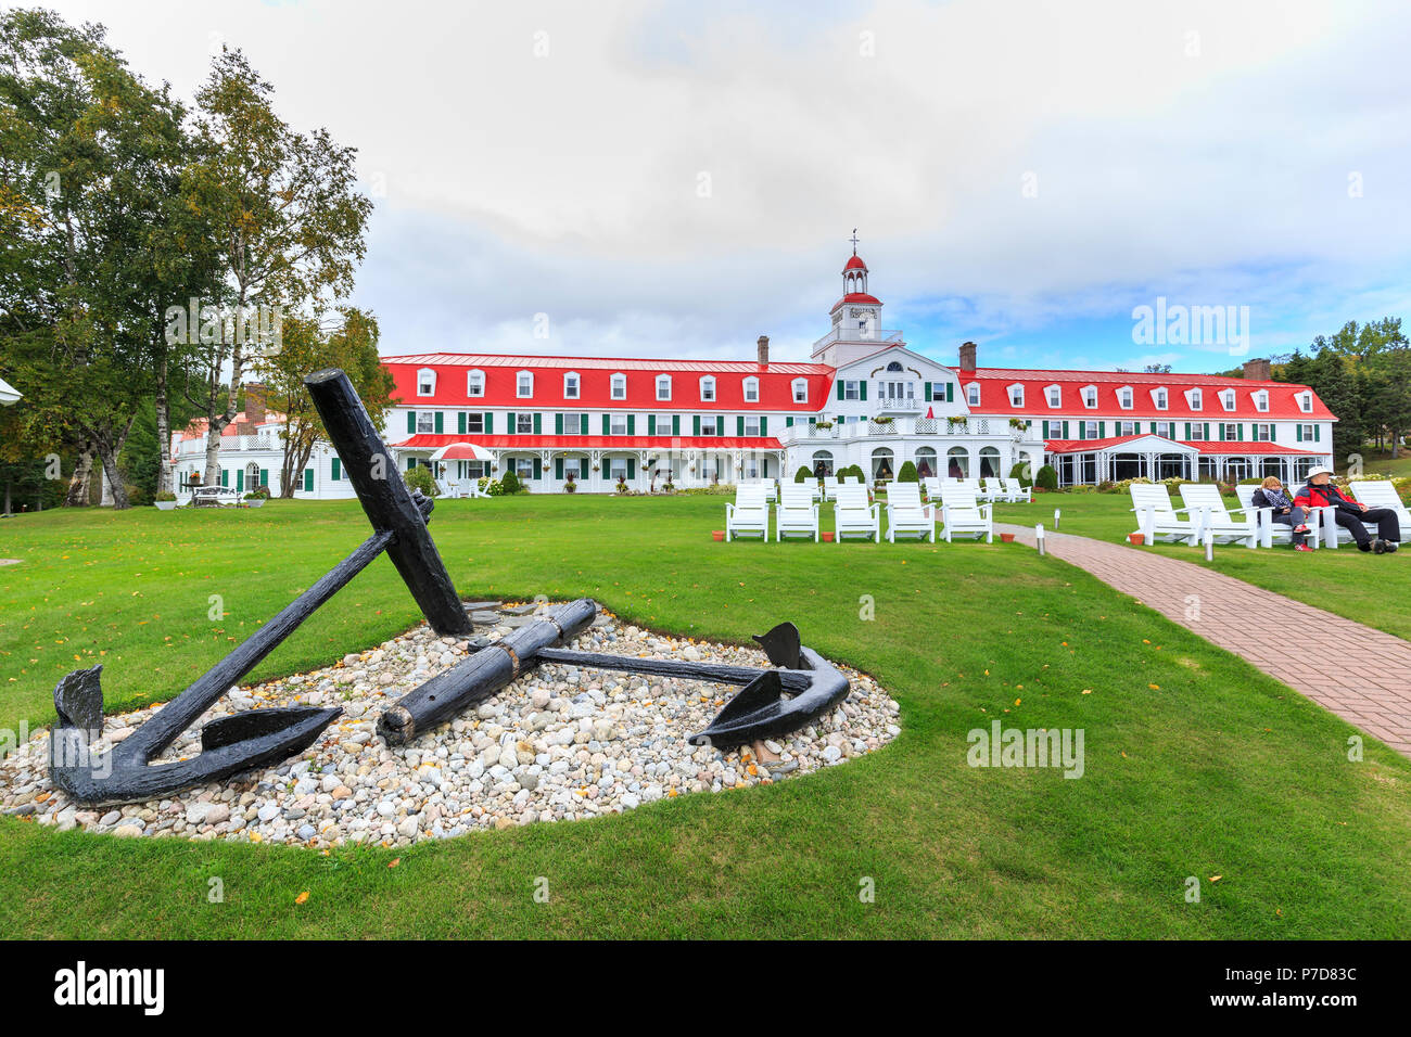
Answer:
<svg viewBox="0 0 1411 1037"><path fill-rule="evenodd" d="M995 532L1002 529L1034 542L1033 526L996 522ZM1411 642L1154 552L1048 529L1044 546L1411 756ZM1292 657L1290 629L1315 636L1319 653L1356 686Z"/></svg>

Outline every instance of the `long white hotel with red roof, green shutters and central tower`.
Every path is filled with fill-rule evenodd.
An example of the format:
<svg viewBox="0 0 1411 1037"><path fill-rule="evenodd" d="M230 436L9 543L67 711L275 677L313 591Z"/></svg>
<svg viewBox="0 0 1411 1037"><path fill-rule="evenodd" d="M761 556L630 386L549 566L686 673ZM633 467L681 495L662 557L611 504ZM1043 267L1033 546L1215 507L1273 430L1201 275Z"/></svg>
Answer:
<svg viewBox="0 0 1411 1037"><path fill-rule="evenodd" d="M882 302L852 255L831 330L809 363L514 357L385 357L396 381L384 439L398 466L473 443L488 461L449 461L446 483L514 470L535 492L611 492L718 480L792 478L861 466L869 481L904 461L923 475L1007 475L1053 464L1061 484L1136 475L1301 478L1332 464L1332 422L1305 385L1243 378L976 367L974 343L941 364L882 329ZM188 446L195 451L193 447ZM248 470L240 450L230 467ZM222 451L226 467L227 451ZM329 450L299 497L350 497ZM278 474L278 464L268 466ZM231 485L234 481L231 480ZM277 487L271 487L277 492Z"/></svg>

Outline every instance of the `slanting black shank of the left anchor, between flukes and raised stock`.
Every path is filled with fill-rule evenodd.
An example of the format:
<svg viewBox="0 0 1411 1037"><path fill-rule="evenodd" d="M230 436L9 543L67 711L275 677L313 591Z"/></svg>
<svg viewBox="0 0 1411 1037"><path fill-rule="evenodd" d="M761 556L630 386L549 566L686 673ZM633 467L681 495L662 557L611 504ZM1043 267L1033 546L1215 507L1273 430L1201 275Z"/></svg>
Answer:
<svg viewBox="0 0 1411 1037"><path fill-rule="evenodd" d="M391 530L381 530L367 538L351 554L330 569L309 590L285 605L278 615L243 641L234 652L198 677L190 687L172 698L157 714L143 724L124 742L124 752L137 752L141 759L151 759L176 741L182 731L214 705L230 687L270 655L279 642L308 619L313 612L346 587L354 576L385 549L392 539Z"/></svg>

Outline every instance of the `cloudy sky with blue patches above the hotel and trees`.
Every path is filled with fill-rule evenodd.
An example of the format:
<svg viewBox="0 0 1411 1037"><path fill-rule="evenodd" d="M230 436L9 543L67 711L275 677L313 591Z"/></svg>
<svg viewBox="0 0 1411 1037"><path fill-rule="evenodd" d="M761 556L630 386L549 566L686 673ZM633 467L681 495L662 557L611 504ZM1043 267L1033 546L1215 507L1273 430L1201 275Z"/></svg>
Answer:
<svg viewBox="0 0 1411 1037"><path fill-rule="evenodd" d="M384 353L806 358L854 227L883 326L944 361L1206 371L1411 325L1407 3L48 6L188 99L238 47L358 150ZM1158 296L1247 306L1247 344L1134 341Z"/></svg>

